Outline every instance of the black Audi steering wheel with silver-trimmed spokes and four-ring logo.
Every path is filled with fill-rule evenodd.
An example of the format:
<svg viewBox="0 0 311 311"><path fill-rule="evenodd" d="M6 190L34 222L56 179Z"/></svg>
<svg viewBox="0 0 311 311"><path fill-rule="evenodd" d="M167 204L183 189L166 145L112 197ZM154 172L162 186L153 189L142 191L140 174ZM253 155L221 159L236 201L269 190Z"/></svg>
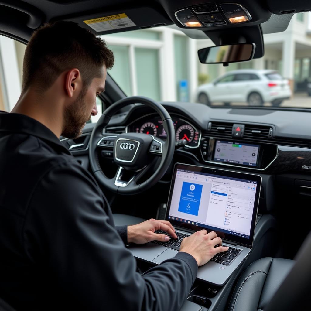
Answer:
<svg viewBox="0 0 311 311"><path fill-rule="evenodd" d="M104 133L104 127L111 117L130 104L144 104L160 115L167 139L163 141L145 133ZM165 174L173 160L175 150L175 130L167 110L155 100L144 96L132 96L118 100L109 106L97 121L90 138L89 159L95 179L102 186L120 194L137 194L154 186ZM114 178L108 178L104 167L100 166L100 156L113 156L118 165ZM154 165L156 157L161 157L156 171L142 183L139 180Z"/></svg>

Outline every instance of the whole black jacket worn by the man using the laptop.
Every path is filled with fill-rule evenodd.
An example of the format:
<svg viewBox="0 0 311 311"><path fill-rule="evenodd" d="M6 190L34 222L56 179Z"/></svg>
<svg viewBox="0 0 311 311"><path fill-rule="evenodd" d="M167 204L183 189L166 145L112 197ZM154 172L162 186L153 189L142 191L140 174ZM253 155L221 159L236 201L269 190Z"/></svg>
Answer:
<svg viewBox="0 0 311 311"><path fill-rule="evenodd" d="M48 128L0 113L0 159L2 299L17 310L181 307L195 259L180 252L137 273L127 227L114 227L95 179Z"/></svg>

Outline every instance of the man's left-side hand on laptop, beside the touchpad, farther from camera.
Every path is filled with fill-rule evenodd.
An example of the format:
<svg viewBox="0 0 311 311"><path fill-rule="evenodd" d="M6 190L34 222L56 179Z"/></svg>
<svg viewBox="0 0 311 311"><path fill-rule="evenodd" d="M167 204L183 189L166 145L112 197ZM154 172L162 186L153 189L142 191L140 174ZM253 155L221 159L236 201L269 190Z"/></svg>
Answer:
<svg viewBox="0 0 311 311"><path fill-rule="evenodd" d="M165 234L155 233L161 229L177 239L174 227L166 220L149 219L137 225L128 226L128 243L144 244L153 240L168 242Z"/></svg>

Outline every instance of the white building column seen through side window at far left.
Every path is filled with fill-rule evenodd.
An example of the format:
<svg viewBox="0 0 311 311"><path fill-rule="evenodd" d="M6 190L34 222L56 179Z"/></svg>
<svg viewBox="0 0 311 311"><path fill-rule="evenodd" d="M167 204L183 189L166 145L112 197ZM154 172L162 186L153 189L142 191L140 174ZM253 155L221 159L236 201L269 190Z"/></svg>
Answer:
<svg viewBox="0 0 311 311"><path fill-rule="evenodd" d="M21 95L21 82L13 39L0 36L0 75L4 109L11 111Z"/></svg>

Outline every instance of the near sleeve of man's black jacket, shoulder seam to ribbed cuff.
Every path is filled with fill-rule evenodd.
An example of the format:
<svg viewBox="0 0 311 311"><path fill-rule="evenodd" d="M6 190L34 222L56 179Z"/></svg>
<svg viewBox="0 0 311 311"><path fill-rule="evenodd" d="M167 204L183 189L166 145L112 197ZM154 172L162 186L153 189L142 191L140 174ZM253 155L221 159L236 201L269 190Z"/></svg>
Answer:
<svg viewBox="0 0 311 311"><path fill-rule="evenodd" d="M44 263L63 296L87 310L179 310L197 275L188 253L143 276L104 211L100 189L78 165L61 164L38 181L28 204L24 248Z"/></svg>

